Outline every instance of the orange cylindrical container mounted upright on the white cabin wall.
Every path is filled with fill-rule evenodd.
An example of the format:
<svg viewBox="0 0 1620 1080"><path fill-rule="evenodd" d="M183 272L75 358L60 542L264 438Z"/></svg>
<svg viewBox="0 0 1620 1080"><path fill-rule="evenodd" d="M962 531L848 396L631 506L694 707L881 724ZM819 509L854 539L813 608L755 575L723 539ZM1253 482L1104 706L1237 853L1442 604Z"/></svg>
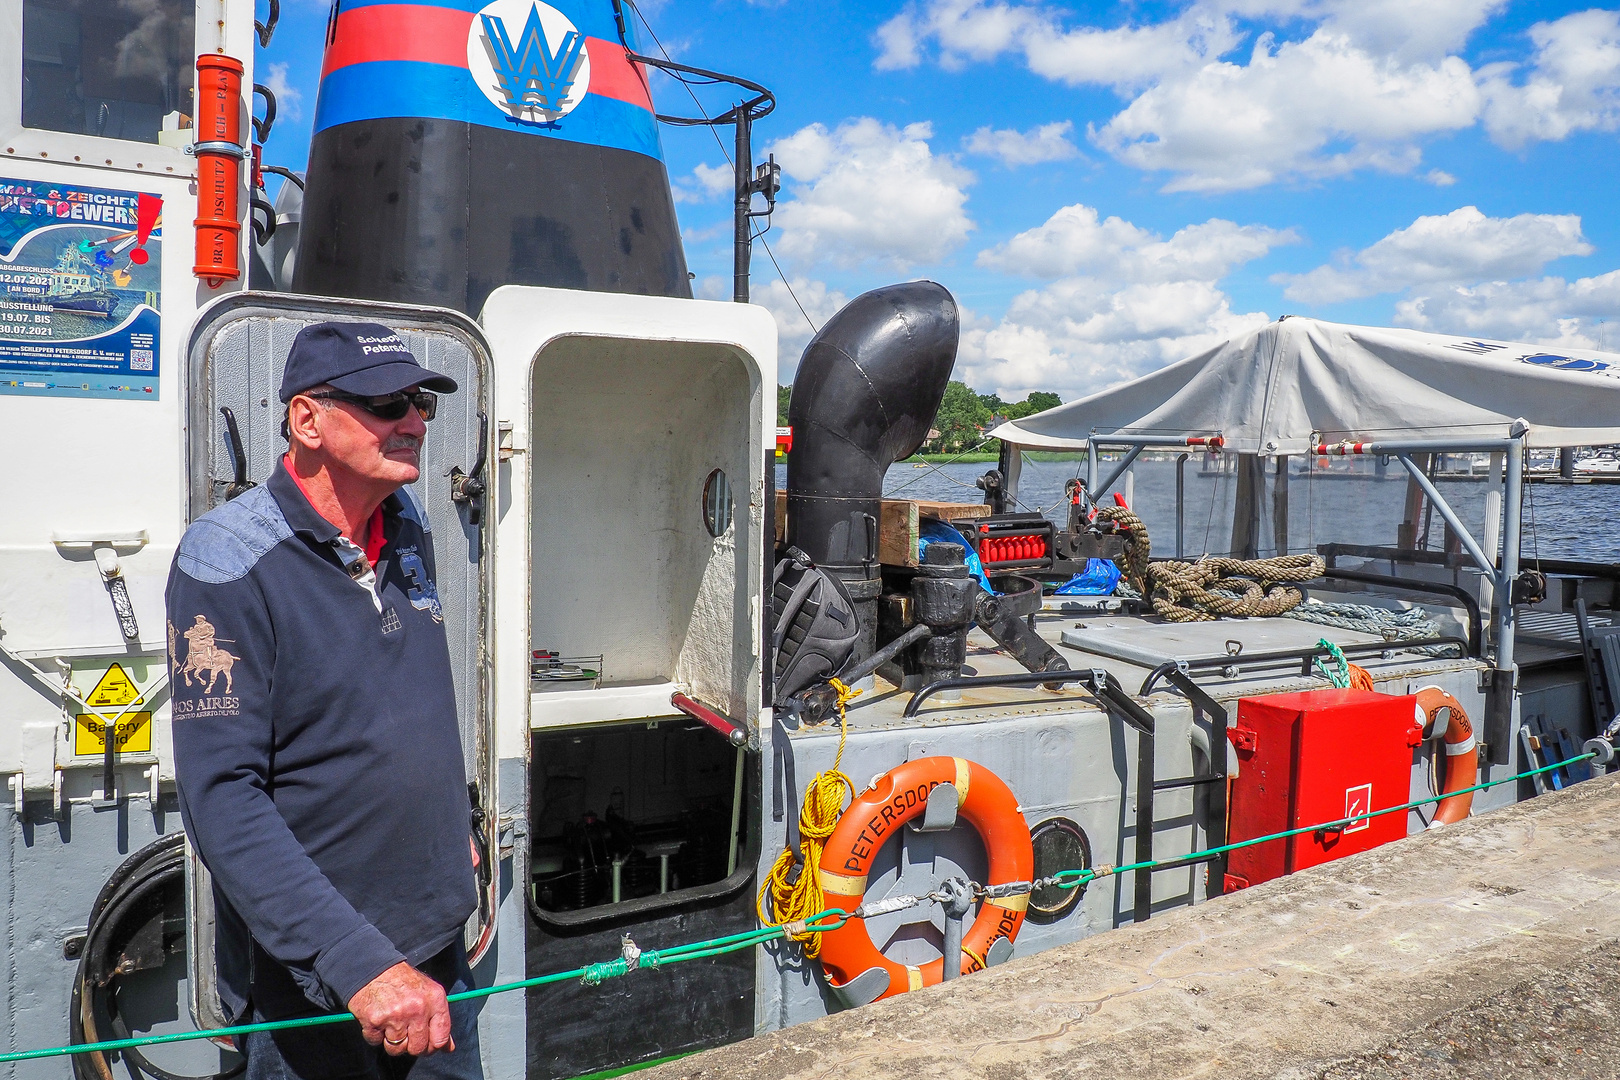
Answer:
<svg viewBox="0 0 1620 1080"><path fill-rule="evenodd" d="M241 277L241 62L198 57L198 261L191 272L219 288Z"/></svg>

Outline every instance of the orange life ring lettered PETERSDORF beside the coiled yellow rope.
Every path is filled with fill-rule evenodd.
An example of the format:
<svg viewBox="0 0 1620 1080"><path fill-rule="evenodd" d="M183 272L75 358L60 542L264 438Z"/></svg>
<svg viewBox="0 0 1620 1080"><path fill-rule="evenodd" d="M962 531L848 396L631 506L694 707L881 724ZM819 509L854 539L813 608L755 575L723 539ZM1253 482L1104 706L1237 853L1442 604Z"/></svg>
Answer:
<svg viewBox="0 0 1620 1080"><path fill-rule="evenodd" d="M1029 824L1019 813L1017 798L995 772L966 758L919 758L889 769L855 800L839 818L828 837L816 868L828 907L854 912L867 892L872 860L894 832L923 813L928 793L940 784L956 785L957 814L978 831L990 857L990 881L998 886L1029 881L1035 873L1035 848ZM1013 941L1024 925L1029 894L987 897L978 918L962 931L961 972L985 967L985 955L998 938ZM896 963L885 957L867 923L850 918L839 929L821 934L821 967L834 986L844 986L862 972L883 968L889 986L878 999L933 986L944 975L944 959L920 967Z"/></svg>

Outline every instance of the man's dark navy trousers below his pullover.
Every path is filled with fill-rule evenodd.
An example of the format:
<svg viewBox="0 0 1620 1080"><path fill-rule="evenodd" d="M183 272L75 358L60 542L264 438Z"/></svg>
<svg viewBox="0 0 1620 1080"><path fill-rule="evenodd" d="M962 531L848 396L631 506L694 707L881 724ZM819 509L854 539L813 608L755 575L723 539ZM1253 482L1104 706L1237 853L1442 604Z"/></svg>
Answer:
<svg viewBox="0 0 1620 1080"><path fill-rule="evenodd" d="M457 994L473 989L473 973L467 967L467 952L460 942L450 946L421 965L421 970L437 980L446 993ZM258 984L254 986L258 996ZM292 1015L316 1015L319 1009L303 1001L306 1009L288 1012L287 999L267 993L264 997L280 999L267 1009L258 1001L253 1006L253 1022L287 1020ZM266 1015L271 1014L271 1015ZM484 1080L483 1061L478 1056L478 1002L450 1002L450 1038L454 1051L441 1051L426 1057L410 1054L392 1056L381 1046L373 1046L360 1036L355 1022L327 1023L290 1031L254 1031L243 1040L241 1052L248 1057L245 1080Z"/></svg>

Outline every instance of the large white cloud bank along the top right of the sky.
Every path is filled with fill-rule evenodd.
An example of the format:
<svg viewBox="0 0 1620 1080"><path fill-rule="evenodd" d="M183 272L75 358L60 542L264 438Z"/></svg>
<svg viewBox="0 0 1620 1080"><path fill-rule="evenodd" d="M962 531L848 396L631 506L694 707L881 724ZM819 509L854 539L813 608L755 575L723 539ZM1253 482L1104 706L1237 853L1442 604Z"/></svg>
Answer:
<svg viewBox="0 0 1620 1080"><path fill-rule="evenodd" d="M1160 21L1066 24L1040 3L915 0L878 31L878 68L1004 55L1126 99L1090 139L1168 191L1233 191L1358 170L1414 175L1427 141L1484 120L1518 147L1620 130L1620 13L1537 23L1533 55L1474 70L1458 50L1507 0L1191 0ZM1270 26L1272 29L1264 29ZM1256 32L1260 29L1262 32ZM1241 50L1241 52L1239 52Z"/></svg>

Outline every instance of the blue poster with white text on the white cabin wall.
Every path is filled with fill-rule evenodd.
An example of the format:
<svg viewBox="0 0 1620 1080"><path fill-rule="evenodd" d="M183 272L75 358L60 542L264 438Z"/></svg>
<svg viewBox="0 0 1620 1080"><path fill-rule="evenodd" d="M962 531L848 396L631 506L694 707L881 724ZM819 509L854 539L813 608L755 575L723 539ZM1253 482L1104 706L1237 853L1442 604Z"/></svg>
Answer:
<svg viewBox="0 0 1620 1080"><path fill-rule="evenodd" d="M157 400L162 210L0 178L0 393Z"/></svg>

